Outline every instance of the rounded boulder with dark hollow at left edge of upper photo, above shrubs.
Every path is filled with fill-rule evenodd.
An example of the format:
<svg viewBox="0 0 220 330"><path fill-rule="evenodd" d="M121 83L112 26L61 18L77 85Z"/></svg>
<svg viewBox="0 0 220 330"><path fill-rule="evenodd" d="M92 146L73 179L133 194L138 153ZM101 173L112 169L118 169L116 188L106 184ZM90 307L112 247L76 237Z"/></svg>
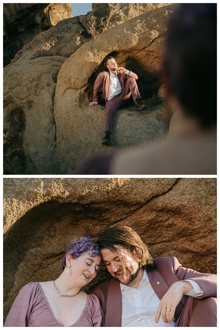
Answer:
<svg viewBox="0 0 220 330"><path fill-rule="evenodd" d="M4 70L4 129L16 143L15 155L27 164L34 158L36 168L45 161L51 169L56 167L53 100L65 60L63 56L40 57Z"/></svg>

